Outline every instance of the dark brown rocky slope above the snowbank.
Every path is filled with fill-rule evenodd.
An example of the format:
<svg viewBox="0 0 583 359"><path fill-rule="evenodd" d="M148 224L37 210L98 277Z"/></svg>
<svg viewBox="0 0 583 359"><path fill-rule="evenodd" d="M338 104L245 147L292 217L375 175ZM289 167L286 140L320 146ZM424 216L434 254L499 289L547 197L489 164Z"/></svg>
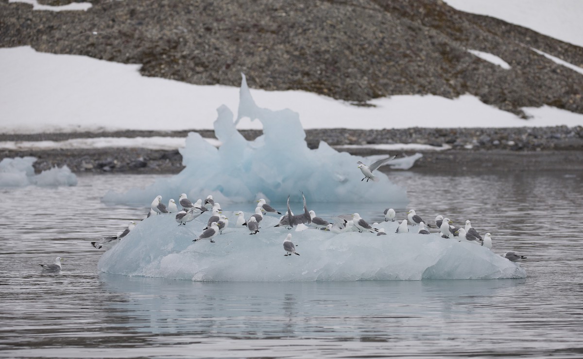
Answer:
<svg viewBox="0 0 583 359"><path fill-rule="evenodd" d="M89 2L86 12L48 12L2 0L0 47L142 63L146 76L193 84L238 86L243 72L251 87L359 105L469 93L521 116L521 107L544 104L583 113L583 75L531 49L583 66L583 48L438 0Z"/></svg>

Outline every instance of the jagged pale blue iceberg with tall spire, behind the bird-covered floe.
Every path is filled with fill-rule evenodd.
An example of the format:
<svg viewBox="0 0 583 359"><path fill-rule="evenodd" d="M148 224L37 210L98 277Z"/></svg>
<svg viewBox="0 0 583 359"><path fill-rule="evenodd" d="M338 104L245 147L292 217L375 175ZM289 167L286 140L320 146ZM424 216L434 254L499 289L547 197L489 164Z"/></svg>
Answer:
<svg viewBox="0 0 583 359"><path fill-rule="evenodd" d="M191 132L180 149L182 172L145 189L110 191L102 201L144 204L158 195L169 199L186 193L194 199L212 194L221 204L258 198L285 202L289 194L301 190L311 202L382 202L396 208L408 203L405 189L382 172L375 172L378 183L361 182L357 162L365 161L363 157L338 152L324 141L317 149L308 148L298 114L257 106L244 75L237 118L224 105L217 112L214 127L219 148ZM237 124L246 118L262 123L263 134L255 140L246 140L237 130Z"/></svg>

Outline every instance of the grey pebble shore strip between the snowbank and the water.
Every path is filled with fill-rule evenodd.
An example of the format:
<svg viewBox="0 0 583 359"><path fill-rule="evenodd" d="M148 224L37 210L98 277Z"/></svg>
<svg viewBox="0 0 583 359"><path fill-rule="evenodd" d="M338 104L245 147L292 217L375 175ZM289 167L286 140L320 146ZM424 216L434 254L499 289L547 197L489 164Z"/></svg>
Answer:
<svg viewBox="0 0 583 359"><path fill-rule="evenodd" d="M197 131L213 138L211 130ZM258 130L243 130L252 140ZM308 147L317 148L320 141L332 146L391 143L426 144L451 147L445 151L399 151L389 153L374 148L339 149L355 155L413 154L422 152L412 170L467 168L496 170L583 170L583 127L519 127L510 129L314 129L305 130ZM107 133L42 133L0 134L0 141L62 141L82 137L185 137L188 131L116 131ZM182 170L178 150L148 150L145 148L99 148L67 150L0 150L0 159L33 156L35 170L67 165L75 173L177 173Z"/></svg>

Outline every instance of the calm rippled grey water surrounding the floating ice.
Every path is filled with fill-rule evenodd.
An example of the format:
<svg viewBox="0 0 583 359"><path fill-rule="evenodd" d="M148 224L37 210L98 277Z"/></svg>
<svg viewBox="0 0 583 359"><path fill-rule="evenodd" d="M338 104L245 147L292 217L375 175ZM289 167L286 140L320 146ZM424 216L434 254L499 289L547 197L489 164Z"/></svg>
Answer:
<svg viewBox="0 0 583 359"><path fill-rule="evenodd" d="M529 257L528 278L195 283L104 275L90 241L146 209L106 207L100 197L156 176L81 176L77 187L0 190L0 357L583 356L583 173L391 177L424 218L472 219L492 233L496 253ZM369 222L381 218L377 207L359 211ZM57 255L64 270L44 273L38 264Z"/></svg>

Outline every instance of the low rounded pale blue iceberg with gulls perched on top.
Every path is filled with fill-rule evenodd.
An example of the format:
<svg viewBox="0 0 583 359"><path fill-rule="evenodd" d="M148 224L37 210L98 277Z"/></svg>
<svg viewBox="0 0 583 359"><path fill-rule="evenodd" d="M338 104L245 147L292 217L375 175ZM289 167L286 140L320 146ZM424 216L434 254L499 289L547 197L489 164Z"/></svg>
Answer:
<svg viewBox="0 0 583 359"><path fill-rule="evenodd" d="M233 214L227 215L234 218ZM150 216L99 261L101 272L195 281L352 281L422 279L525 278L518 264L486 247L439 233L396 234L398 222L385 222L387 235L332 232L308 228L301 232L273 227L265 216L259 233L229 228L208 240L192 242L208 215L178 226L173 214ZM234 222L234 221L233 221ZM195 230L196 229L196 230ZM286 257L283 240L300 255Z"/></svg>

